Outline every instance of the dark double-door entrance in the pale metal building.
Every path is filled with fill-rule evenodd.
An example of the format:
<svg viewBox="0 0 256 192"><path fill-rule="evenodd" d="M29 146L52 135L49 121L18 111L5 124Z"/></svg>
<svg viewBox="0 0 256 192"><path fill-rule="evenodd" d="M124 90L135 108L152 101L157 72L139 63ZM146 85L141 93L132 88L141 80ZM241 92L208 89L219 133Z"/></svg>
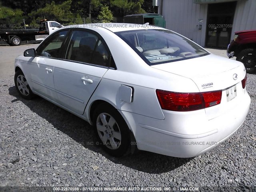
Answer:
<svg viewBox="0 0 256 192"><path fill-rule="evenodd" d="M208 4L206 47L227 48L235 9L236 2Z"/></svg>

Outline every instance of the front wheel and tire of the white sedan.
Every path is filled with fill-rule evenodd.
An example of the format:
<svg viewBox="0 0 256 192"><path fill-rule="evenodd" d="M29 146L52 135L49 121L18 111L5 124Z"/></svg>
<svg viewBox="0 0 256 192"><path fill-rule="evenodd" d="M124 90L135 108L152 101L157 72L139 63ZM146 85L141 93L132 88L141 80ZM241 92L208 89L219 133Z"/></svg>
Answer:
<svg viewBox="0 0 256 192"><path fill-rule="evenodd" d="M21 70L16 71L14 75L14 84L22 98L31 100L34 97L34 94Z"/></svg>

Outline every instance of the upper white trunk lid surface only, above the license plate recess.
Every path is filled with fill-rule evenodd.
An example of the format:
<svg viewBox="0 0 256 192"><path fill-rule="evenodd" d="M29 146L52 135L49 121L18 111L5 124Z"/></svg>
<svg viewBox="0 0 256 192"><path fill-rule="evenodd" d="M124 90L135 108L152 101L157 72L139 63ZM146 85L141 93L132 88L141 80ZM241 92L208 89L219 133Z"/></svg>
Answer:
<svg viewBox="0 0 256 192"><path fill-rule="evenodd" d="M246 74L241 62L214 54L152 67L190 78L200 92L224 90L242 81ZM233 76L236 76L236 80Z"/></svg>

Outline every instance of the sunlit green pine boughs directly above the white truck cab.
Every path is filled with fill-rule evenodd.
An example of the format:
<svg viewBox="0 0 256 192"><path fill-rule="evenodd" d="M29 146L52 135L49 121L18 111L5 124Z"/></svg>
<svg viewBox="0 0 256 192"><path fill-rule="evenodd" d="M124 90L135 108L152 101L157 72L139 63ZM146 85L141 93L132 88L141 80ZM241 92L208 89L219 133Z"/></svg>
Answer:
<svg viewBox="0 0 256 192"><path fill-rule="evenodd" d="M43 19L56 19L63 20L64 18L72 18L72 12L70 12L71 0L67 0L62 4L55 4L52 1L51 4L46 4L44 8L39 8L36 11L32 11L28 16L31 18Z"/></svg>

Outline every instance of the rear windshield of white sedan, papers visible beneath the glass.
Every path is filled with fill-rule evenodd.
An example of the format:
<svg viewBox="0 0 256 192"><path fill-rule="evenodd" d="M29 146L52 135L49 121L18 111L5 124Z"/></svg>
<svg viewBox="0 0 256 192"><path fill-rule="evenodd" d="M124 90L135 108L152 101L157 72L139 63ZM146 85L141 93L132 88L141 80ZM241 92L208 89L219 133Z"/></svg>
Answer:
<svg viewBox="0 0 256 192"><path fill-rule="evenodd" d="M186 60L208 55L194 42L169 30L116 32L149 65Z"/></svg>

